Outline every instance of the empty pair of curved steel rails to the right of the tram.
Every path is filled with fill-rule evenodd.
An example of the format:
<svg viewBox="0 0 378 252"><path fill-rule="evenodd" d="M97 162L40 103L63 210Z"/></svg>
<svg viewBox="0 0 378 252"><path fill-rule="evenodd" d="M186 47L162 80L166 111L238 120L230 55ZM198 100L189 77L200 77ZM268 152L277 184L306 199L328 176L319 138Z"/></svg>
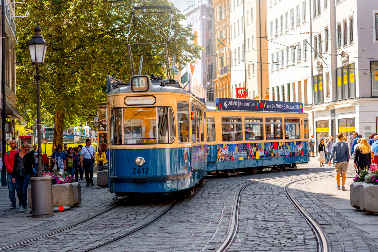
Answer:
<svg viewBox="0 0 378 252"><path fill-rule="evenodd" d="M329 176L334 176L334 175L333 174L332 175L325 175L325 176L320 176L320 177L316 177L316 178L324 178L324 177L329 177ZM233 206L232 216L231 216L231 225L230 225L231 229L229 230L228 235L226 236L226 239L220 244L220 246L218 247L217 250L215 250L215 252L226 251L228 249L228 247L231 246L232 241L234 241L234 239L236 237L237 229L238 229L238 226L239 226L238 222L239 222L240 197L241 197L242 191L244 189L246 189L248 186L251 186L252 184L256 184L256 183L268 181L268 180L273 180L273 179L278 179L278 178L287 178L287 177L290 177L290 176L280 176L280 177L275 177L275 178L260 179L258 181L248 182L247 184L241 186L237 190L237 192L235 193L235 196L234 196L235 200L234 200L234 206ZM304 217L304 219L308 222L311 229L313 230L313 232L316 236L316 239L318 241L319 252L328 252L327 241L325 239L325 235L322 232L321 228L318 226L318 224L316 224L316 221L313 218L311 218L310 215L307 214L307 212L302 208L301 204L299 204L298 201L296 201L296 199L294 198L294 196L291 194L291 192L289 190L289 186L291 184L293 184L295 182L307 180L307 179L314 179L314 177L305 178L305 179L297 179L295 181L292 181L292 182L285 185L284 192L285 192L285 195L287 196L287 198L290 200L290 202L294 205L296 210Z"/></svg>

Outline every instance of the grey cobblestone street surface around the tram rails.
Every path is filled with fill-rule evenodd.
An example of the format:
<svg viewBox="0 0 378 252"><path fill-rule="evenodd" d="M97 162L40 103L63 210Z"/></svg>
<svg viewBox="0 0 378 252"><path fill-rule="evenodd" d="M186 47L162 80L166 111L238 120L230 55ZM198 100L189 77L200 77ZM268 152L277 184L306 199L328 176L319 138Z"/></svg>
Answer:
<svg viewBox="0 0 378 252"><path fill-rule="evenodd" d="M285 172L209 176L192 196L180 201L155 223L98 251L215 251L231 230L235 194L241 193L237 233L226 251L318 251L311 226L284 192L288 186L302 208L321 227L328 251L377 251L378 216L355 210L349 190L336 189L333 167L319 168L317 158ZM349 165L345 187L355 170ZM261 181L263 179L267 179ZM260 181L260 182L259 182ZM8 189L0 189L0 249L83 220L116 204L106 188L85 187L82 203L51 218L32 218L9 209ZM2 251L85 251L149 223L174 199L125 199L114 209L56 235Z"/></svg>

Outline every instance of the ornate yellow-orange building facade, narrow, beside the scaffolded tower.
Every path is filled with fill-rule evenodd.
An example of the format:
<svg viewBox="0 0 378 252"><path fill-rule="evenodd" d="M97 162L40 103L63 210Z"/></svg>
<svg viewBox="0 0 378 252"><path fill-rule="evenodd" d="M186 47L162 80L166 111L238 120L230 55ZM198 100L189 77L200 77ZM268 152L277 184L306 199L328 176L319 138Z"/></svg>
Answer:
<svg viewBox="0 0 378 252"><path fill-rule="evenodd" d="M212 1L215 39L214 98L232 97L229 3L229 0Z"/></svg>

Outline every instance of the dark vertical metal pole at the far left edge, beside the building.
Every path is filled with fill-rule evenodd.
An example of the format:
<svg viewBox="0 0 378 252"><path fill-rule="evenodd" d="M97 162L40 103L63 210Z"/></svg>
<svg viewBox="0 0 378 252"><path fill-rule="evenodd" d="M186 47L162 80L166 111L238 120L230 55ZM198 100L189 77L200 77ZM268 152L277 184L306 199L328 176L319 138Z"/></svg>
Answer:
<svg viewBox="0 0 378 252"><path fill-rule="evenodd" d="M1 54L2 54L2 154L3 162L5 160L5 148L6 148L6 133L5 133L5 124L6 124L6 96L5 96L5 0L1 1ZM5 168L5 165L3 165ZM6 186L6 169L3 169L1 173L1 185Z"/></svg>

